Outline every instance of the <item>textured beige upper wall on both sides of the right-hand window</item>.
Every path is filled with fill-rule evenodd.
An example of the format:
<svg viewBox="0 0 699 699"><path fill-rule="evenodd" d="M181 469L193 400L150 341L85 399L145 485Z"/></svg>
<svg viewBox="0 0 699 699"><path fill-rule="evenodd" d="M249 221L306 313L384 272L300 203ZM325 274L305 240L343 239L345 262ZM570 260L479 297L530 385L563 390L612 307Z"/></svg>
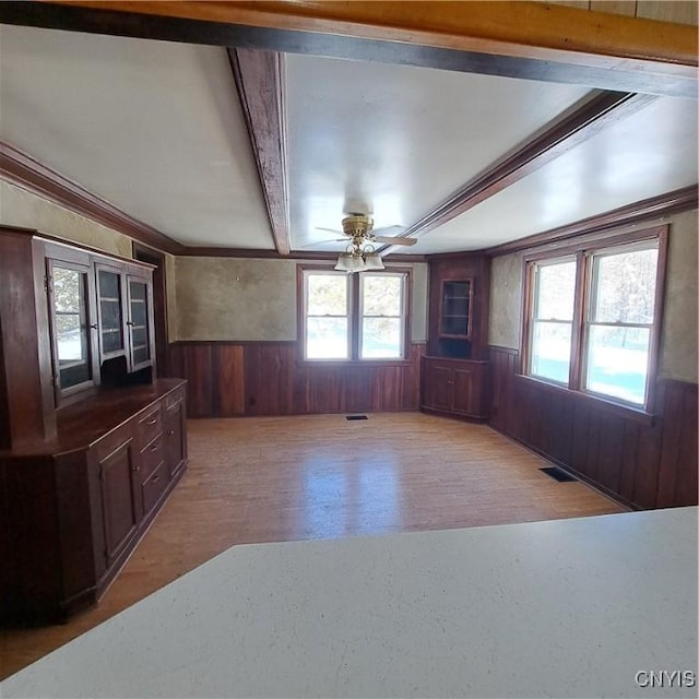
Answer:
<svg viewBox="0 0 699 699"><path fill-rule="evenodd" d="M665 308L659 376L697 382L698 378L698 220L697 211L670 218ZM520 347L522 259L508 254L493 260L488 342Z"/></svg>

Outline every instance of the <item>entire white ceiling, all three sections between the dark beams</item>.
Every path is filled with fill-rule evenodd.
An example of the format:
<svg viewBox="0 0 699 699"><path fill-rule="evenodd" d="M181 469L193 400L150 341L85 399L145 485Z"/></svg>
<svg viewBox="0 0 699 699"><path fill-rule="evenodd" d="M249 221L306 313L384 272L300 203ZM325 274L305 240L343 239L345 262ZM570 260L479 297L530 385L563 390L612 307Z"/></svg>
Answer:
<svg viewBox="0 0 699 699"><path fill-rule="evenodd" d="M0 28L0 139L185 245L274 248L225 49ZM292 248L342 214L408 226L596 93L285 58ZM419 239L479 249L696 183L697 107L663 98ZM1 204L1 202L0 202Z"/></svg>

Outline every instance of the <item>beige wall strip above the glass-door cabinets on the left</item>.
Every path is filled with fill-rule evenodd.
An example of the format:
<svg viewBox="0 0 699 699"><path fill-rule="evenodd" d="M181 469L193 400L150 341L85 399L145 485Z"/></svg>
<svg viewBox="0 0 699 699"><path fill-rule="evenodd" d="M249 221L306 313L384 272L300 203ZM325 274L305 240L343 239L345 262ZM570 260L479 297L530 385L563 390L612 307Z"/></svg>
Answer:
<svg viewBox="0 0 699 699"><path fill-rule="evenodd" d="M125 258L133 257L131 238L0 180L0 223L39 233Z"/></svg>

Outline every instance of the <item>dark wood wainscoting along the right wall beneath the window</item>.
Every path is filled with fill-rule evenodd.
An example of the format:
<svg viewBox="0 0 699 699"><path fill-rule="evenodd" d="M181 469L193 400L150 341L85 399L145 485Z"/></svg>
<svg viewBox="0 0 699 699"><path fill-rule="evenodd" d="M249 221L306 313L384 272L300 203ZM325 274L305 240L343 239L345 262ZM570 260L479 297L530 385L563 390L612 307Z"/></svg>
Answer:
<svg viewBox="0 0 699 699"><path fill-rule="evenodd" d="M518 375L490 346L490 425L637 508L697 505L697 384L660 379L655 414L636 416Z"/></svg>

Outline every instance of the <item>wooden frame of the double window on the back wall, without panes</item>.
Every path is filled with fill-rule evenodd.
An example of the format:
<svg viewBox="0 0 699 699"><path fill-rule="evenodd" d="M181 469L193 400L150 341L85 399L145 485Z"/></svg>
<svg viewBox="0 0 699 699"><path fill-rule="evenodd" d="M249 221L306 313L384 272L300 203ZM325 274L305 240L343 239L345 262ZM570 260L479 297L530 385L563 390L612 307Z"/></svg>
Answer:
<svg viewBox="0 0 699 699"><path fill-rule="evenodd" d="M406 366L410 365L408 347L411 339L411 310L412 310L412 291L413 279L412 269L405 266L389 266L386 270L376 270L370 272L357 272L347 274L339 272L333 266L320 264L298 264L297 271L297 346L298 360L307 365L322 366ZM348 318L348 358L312 358L306 354L306 327L307 327L307 279L309 275L317 274L339 274L347 277L347 318ZM401 356L400 357L369 357L363 359L362 352L362 327L363 327L363 308L362 308L362 281L364 275L370 276L400 276L403 280L403 329L401 333Z"/></svg>

